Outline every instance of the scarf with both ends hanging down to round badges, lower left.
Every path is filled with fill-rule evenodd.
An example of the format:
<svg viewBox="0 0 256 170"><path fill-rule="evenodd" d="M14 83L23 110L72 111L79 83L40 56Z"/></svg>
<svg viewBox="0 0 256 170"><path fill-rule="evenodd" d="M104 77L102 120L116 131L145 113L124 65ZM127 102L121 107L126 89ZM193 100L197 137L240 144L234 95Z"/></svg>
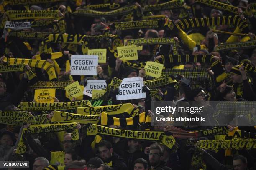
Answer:
<svg viewBox="0 0 256 170"><path fill-rule="evenodd" d="M24 136L25 134L50 133L50 132L61 132L66 130L72 130L71 140L79 140L79 133L76 127L77 127L77 123L63 123L63 124L30 125L28 128L23 128L16 153L23 154L27 150L27 147L24 143L24 140L26 139L26 137Z"/></svg>

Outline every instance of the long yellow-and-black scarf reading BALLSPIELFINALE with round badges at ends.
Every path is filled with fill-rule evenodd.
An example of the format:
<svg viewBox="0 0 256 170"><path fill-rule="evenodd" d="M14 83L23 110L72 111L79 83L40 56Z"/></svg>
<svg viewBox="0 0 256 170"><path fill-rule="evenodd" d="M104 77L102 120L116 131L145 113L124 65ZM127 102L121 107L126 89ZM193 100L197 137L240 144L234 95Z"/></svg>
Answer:
<svg viewBox="0 0 256 170"><path fill-rule="evenodd" d="M166 135L164 132L158 131L133 131L108 128L100 125L91 125L87 128L87 135L109 135L119 138L158 141L170 148L172 153L176 152L178 149L172 135Z"/></svg>

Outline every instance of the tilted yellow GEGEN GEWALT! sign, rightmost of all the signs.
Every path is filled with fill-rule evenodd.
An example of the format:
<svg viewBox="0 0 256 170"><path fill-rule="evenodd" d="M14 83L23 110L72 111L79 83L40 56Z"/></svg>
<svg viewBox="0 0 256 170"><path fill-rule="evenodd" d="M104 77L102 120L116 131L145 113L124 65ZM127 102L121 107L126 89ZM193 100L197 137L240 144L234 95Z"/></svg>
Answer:
<svg viewBox="0 0 256 170"><path fill-rule="evenodd" d="M163 70L163 67L164 67L163 64L148 61L144 68L145 74L151 77L159 78L161 77L161 72Z"/></svg>

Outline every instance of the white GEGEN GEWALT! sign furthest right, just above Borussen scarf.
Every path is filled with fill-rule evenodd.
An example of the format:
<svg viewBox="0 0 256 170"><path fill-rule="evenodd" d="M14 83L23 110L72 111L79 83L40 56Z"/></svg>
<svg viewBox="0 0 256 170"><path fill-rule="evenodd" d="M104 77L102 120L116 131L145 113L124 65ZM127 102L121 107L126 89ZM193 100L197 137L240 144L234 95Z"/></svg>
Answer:
<svg viewBox="0 0 256 170"><path fill-rule="evenodd" d="M116 100L146 98L146 93L142 92L143 85L143 78L141 77L124 78L119 86Z"/></svg>

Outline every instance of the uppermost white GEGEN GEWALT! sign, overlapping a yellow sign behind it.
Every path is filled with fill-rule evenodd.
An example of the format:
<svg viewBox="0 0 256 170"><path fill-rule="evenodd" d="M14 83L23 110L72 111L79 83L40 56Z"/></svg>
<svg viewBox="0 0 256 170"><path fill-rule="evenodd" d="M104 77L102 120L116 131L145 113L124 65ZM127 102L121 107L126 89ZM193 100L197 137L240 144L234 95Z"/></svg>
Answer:
<svg viewBox="0 0 256 170"><path fill-rule="evenodd" d="M71 75L97 75L97 55L72 55Z"/></svg>

